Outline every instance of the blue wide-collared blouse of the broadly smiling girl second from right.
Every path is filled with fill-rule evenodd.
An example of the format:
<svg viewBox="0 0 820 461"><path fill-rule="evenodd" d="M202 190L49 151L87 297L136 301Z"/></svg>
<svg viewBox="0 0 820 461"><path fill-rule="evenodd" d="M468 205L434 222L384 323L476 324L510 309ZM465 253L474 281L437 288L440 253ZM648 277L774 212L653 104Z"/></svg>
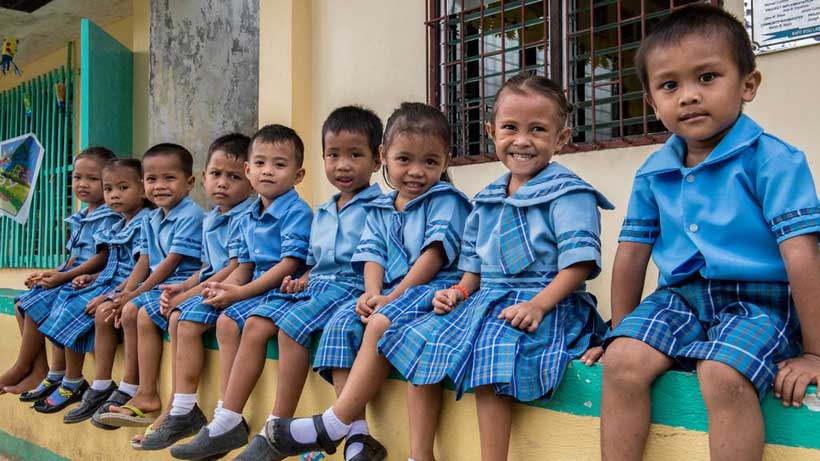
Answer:
<svg viewBox="0 0 820 461"><path fill-rule="evenodd" d="M485 187L473 198L475 209L464 229L459 269L490 278L532 279L539 288L558 271L592 261L601 271L601 214L612 204L565 166L552 162L535 177L507 195L510 173ZM505 275L501 267L502 211L517 207L525 216L529 244L535 259L523 271Z"/></svg>

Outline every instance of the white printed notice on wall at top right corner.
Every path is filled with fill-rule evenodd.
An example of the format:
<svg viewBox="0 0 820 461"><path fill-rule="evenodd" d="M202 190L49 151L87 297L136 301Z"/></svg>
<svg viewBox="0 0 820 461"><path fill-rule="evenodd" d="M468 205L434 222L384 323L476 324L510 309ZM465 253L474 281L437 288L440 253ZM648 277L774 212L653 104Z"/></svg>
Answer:
<svg viewBox="0 0 820 461"><path fill-rule="evenodd" d="M755 54L820 43L820 0L744 0Z"/></svg>

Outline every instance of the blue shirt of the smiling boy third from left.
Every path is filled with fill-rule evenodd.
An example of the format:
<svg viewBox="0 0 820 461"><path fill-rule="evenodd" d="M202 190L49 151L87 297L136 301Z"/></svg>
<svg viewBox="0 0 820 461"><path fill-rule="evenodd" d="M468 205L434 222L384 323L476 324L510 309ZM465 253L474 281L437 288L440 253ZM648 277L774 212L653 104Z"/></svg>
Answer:
<svg viewBox="0 0 820 461"><path fill-rule="evenodd" d="M171 253L182 255L183 259L166 279L167 283L181 282L200 269L204 216L202 208L186 196L167 215L157 208L145 217L140 254L148 255L151 272Z"/></svg>

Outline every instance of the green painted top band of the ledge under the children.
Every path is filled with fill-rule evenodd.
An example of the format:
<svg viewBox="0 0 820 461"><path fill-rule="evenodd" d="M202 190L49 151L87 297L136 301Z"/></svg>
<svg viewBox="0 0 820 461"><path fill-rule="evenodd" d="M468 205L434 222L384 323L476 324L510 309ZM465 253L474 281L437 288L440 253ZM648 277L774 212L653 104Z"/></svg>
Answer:
<svg viewBox="0 0 820 461"><path fill-rule="evenodd" d="M0 312L14 314L14 296L18 293L16 290L0 289ZM218 349L213 331L207 333L203 341L207 348ZM317 345L318 338L314 337L311 356L316 352ZM268 342L267 357L272 360L279 358L279 351L273 341ZM598 364L588 367L575 360L567 367L564 378L550 401L523 402L522 405L577 416L600 417L601 371ZM404 380L395 370L390 377ZM452 385L447 387L453 389ZM817 392L816 387L811 386L810 392ZM706 407L694 373L665 373L652 387L652 402L653 423L700 432L708 430ZM784 408L771 393L763 399L761 406L766 422L767 443L820 449L820 435L817 434L820 411L810 410L806 405Z"/></svg>

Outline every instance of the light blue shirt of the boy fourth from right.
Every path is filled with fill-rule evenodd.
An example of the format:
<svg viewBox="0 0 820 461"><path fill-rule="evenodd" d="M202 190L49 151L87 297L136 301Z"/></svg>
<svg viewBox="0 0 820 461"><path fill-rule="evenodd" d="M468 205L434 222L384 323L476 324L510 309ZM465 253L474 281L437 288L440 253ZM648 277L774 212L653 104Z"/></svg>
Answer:
<svg viewBox="0 0 820 461"><path fill-rule="evenodd" d="M307 256L307 265L313 267L311 280L335 278L363 285L363 279L353 270L351 260L367 220L365 206L381 195L379 185L373 184L356 194L341 210L336 207L339 194L316 209Z"/></svg>

